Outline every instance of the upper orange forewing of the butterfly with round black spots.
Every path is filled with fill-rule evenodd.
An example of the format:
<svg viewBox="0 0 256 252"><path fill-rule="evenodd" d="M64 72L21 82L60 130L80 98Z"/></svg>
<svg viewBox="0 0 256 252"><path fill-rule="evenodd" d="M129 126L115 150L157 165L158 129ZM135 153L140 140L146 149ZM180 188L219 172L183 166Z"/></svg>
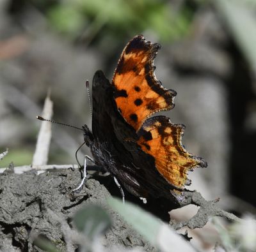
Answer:
<svg viewBox="0 0 256 252"><path fill-rule="evenodd" d="M124 48L113 76L118 110L136 131L153 113L174 107L176 92L164 89L154 75L159 48L159 44L135 36Z"/></svg>

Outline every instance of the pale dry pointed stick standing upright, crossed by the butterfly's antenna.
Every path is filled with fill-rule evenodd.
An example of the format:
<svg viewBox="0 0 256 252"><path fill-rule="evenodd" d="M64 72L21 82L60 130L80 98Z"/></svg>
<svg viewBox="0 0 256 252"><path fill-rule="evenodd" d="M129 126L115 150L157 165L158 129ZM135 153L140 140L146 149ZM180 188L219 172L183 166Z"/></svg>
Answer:
<svg viewBox="0 0 256 252"><path fill-rule="evenodd" d="M52 117L52 101L50 94L47 94L42 112L44 117L51 119ZM49 148L51 143L51 122L43 121L38 134L36 149L33 156L32 167L46 165L48 161ZM36 168L35 168L36 169Z"/></svg>

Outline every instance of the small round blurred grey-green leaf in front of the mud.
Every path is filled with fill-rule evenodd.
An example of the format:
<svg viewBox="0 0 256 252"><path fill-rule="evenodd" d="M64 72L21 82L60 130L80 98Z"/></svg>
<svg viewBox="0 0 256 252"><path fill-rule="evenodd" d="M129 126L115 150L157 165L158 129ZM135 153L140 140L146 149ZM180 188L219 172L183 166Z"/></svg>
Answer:
<svg viewBox="0 0 256 252"><path fill-rule="evenodd" d="M94 239L106 232L111 226L111 218L99 205L86 205L74 216L74 225L86 237Z"/></svg>

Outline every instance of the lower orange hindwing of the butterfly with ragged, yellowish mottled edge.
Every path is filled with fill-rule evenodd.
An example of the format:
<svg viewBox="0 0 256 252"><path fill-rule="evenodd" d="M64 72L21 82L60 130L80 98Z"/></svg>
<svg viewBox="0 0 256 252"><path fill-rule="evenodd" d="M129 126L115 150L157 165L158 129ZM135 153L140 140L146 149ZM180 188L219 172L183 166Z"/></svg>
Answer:
<svg viewBox="0 0 256 252"><path fill-rule="evenodd" d="M182 146L184 128L182 124L172 124L162 115L147 119L138 131L141 149L154 156L158 172L177 189L190 184L189 170L207 167L204 159L193 156Z"/></svg>

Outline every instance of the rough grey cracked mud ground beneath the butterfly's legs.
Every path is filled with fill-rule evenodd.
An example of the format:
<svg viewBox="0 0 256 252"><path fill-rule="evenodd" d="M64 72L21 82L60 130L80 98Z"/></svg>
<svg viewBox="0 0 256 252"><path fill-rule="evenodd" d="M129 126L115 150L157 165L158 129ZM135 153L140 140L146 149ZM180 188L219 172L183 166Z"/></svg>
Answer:
<svg viewBox="0 0 256 252"><path fill-rule="evenodd" d="M72 216L77 209L92 203L102 205L113 218L112 228L103 237L104 246L156 251L109 209L106 198L111 195L99 181L88 179L81 192L72 193L80 179L80 172L71 169L51 170L40 175L36 175L35 170L19 175L10 169L1 174L0 251L42 251L33 244L36 234L45 235L65 251L65 238L57 219L63 219L72 228ZM52 212L58 218L52 216Z"/></svg>

